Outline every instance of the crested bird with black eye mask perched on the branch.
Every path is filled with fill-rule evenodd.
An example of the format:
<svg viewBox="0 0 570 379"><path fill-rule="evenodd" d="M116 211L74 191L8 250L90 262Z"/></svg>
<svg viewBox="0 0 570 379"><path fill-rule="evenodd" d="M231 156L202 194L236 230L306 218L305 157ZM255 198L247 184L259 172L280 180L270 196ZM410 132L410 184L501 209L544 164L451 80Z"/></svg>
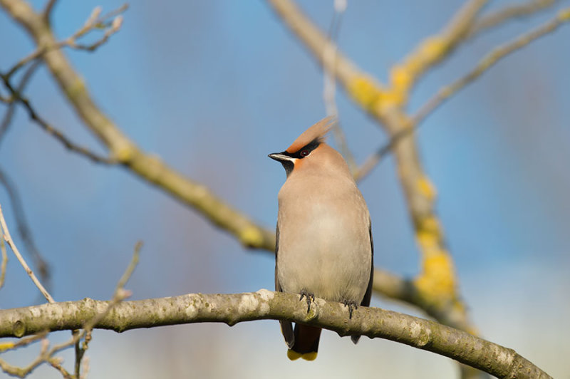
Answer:
<svg viewBox="0 0 570 379"><path fill-rule="evenodd" d="M342 155L325 142L336 123L311 126L283 152L269 157L283 165L275 246L275 290L315 297L353 309L370 306L373 241L368 206ZM321 328L279 321L290 360L314 360ZM357 343L360 336L351 336Z"/></svg>

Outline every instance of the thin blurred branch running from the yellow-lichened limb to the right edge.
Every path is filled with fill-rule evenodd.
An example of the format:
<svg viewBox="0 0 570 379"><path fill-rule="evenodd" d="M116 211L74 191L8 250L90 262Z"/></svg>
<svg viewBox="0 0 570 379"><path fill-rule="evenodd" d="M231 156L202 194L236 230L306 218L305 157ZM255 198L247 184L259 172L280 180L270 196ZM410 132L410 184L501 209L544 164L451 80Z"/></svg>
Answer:
<svg viewBox="0 0 570 379"><path fill-rule="evenodd" d="M570 21L570 8L565 8L559 11L556 14L554 19L546 22L539 26L538 28L534 29L533 31L529 31L528 33L522 34L522 36L518 36L514 38L513 41L509 43L505 43L502 46L494 48L490 53L484 56L477 66L472 69L467 75L462 76L461 78L457 79L457 81L451 83L450 85L441 88L437 94L435 94L430 100L427 100L427 103L423 105L418 113L416 113L412 118L413 125L419 125L430 113L432 113L437 107L439 107L445 100L450 98L451 95L457 93L458 90L461 90L465 87L465 85L475 81L475 79L479 78L482 73L487 71L489 68L494 66L497 62L499 62L505 56L508 56L510 53L527 46L532 41L540 38L541 36L545 36L548 33L555 31L561 24ZM408 130L408 133L412 130Z"/></svg>

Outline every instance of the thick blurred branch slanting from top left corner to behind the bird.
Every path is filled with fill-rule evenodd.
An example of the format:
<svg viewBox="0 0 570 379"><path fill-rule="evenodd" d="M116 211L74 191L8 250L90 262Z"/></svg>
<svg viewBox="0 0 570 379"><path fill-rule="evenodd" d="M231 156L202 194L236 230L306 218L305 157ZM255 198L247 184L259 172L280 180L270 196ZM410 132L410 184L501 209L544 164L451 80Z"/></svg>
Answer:
<svg viewBox="0 0 570 379"><path fill-rule="evenodd" d="M25 1L0 0L0 5L26 28L38 47L53 46L56 43L46 21ZM112 160L123 163L142 179L190 205L214 225L237 237L244 246L274 249L274 232L255 224L242 212L212 194L207 187L187 179L157 157L140 150L128 139L95 105L83 79L73 70L61 50L48 51L41 58L83 123L108 147Z"/></svg>

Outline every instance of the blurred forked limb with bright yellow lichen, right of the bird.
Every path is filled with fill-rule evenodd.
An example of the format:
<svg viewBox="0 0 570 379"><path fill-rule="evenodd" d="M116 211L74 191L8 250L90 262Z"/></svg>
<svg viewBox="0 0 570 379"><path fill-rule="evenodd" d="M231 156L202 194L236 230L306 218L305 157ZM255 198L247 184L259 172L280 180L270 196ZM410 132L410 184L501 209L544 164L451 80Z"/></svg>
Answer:
<svg viewBox="0 0 570 379"><path fill-rule="evenodd" d="M404 133L409 128L410 119L403 112L403 101L397 100L394 88L384 88L371 76L363 73L356 64L343 56L336 49L336 65L331 66L326 60L326 48L330 44L326 36L314 26L311 21L289 0L268 0L274 7L282 21L291 28L300 41L309 51L314 54L318 63L325 70L334 73L339 83L348 91L353 100L363 110L370 113L380 125L383 125L388 135ZM485 1L471 0L455 16L450 25L444 28L443 35L454 46L472 23L473 17L484 5ZM426 49L420 49L426 53ZM427 49L427 53L430 49ZM443 53L442 51L437 54ZM412 53L412 56L416 56ZM425 64L431 64L437 59L427 59ZM408 87L409 88L409 87ZM422 253L422 273L415 279L414 285L418 289L418 303L430 303L430 308L440 309L440 313L462 313L460 323L462 326L469 325L465 306L457 294L457 279L453 268L452 258L445 246L442 227L437 214L435 214L435 189L431 185L427 175L423 172L418 148L413 138L406 138L395 145L393 150L400 183L403 187L405 198L415 228L420 252ZM358 173L357 173L358 175ZM459 326L452 323L452 326ZM475 331L474 328L467 328Z"/></svg>

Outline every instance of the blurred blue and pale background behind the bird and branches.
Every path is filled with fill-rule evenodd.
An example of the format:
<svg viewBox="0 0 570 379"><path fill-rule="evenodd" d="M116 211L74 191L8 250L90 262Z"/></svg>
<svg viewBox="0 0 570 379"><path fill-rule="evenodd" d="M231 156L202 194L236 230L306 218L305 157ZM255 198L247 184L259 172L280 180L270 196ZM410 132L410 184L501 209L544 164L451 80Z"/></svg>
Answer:
<svg viewBox="0 0 570 379"><path fill-rule="evenodd" d="M36 9L43 1L33 1ZM71 36L97 5L60 0L53 27ZM298 1L324 30L333 1ZM486 11L506 1L494 1ZM462 45L420 82L417 109L499 43L544 23L556 6L510 21ZM385 81L420 39L440 31L457 1L349 1L338 44ZM0 68L33 51L0 11ZM93 36L95 40L96 36ZM90 37L91 38L91 37ZM88 38L89 41L89 38ZM207 185L257 222L274 227L281 151L325 115L320 68L265 1L137 1L120 32L95 53L67 51L95 100L143 150ZM484 338L514 348L555 378L570 378L570 26L512 54L430 116L418 133L437 212L455 259L460 293ZM81 145L104 153L41 68L28 85L38 113ZM386 142L343 90L341 125L358 162ZM4 105L0 104L4 112ZM332 138L331 138L331 142ZM16 184L56 301L110 298L139 239L133 298L273 289L274 257L243 249L179 202L121 167L65 150L21 109L0 146L0 166ZM418 249L393 160L360 183L373 220L375 264L418 273ZM0 204L16 234L6 191ZM9 254L0 307L42 303ZM31 260L31 259L28 259ZM421 316L374 297L373 306ZM54 333L64 341L70 333ZM24 365L38 346L4 355ZM290 362L276 321L195 324L121 335L95 331L90 378L456 378L452 360L380 339L325 332L318 359ZM72 351L63 353L66 367ZM0 374L4 375L4 374ZM38 368L32 378L61 378Z"/></svg>

